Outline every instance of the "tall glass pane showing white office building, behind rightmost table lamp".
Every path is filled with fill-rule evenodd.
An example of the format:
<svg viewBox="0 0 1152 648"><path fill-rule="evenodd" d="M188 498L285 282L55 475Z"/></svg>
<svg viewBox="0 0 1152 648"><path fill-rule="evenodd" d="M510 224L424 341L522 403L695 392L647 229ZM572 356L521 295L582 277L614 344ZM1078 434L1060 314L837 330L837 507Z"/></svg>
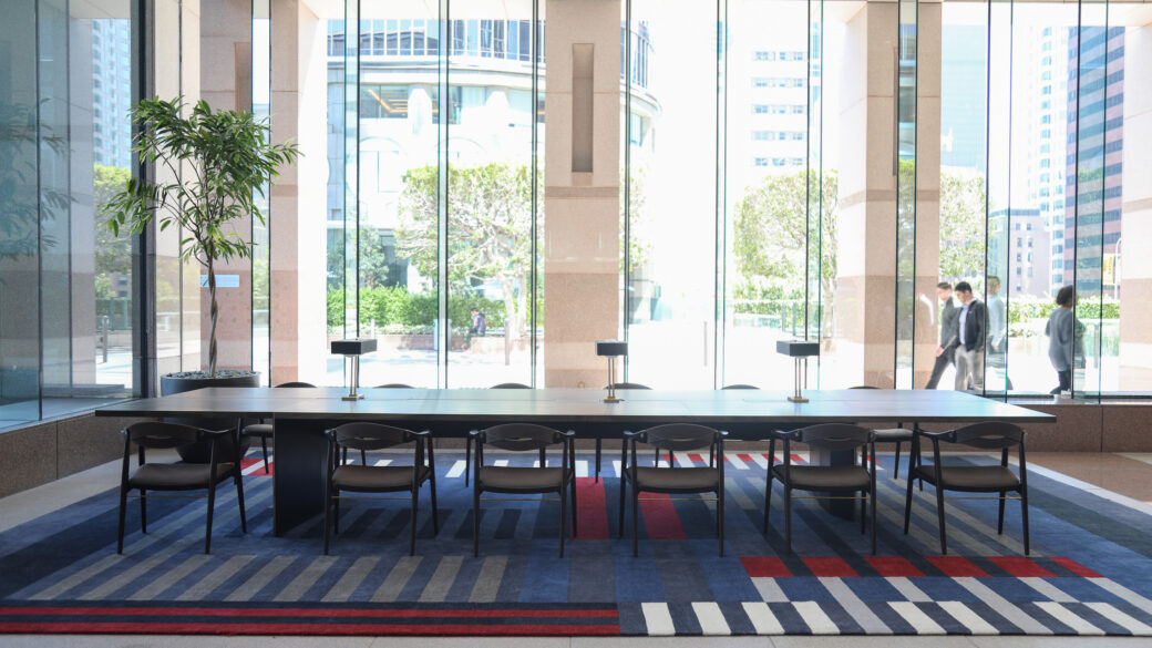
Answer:
<svg viewBox="0 0 1152 648"><path fill-rule="evenodd" d="M793 361L776 340L814 339L821 314L832 316L831 304L809 308L832 293L811 261L821 226L833 244L836 193L834 173L819 190L820 8L728 3L723 384L793 386Z"/></svg>

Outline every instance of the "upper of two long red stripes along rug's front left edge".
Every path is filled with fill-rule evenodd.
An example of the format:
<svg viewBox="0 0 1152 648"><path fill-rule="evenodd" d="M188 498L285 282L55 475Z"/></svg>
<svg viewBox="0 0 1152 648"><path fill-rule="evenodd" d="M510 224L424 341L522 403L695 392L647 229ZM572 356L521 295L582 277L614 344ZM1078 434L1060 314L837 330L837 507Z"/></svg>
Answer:
<svg viewBox="0 0 1152 648"><path fill-rule="evenodd" d="M167 616L167 617L320 617L320 618L571 618L596 619L619 618L615 608L594 610L429 610L407 608L402 610L380 610L374 608L123 608L93 605L84 606L6 606L0 608L0 616Z"/></svg>

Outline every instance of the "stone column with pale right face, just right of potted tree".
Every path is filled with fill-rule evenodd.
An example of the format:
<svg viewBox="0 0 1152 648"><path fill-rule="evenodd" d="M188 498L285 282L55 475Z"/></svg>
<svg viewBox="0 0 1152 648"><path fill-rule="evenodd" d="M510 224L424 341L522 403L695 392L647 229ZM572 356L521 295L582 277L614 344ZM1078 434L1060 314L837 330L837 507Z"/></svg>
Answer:
<svg viewBox="0 0 1152 648"><path fill-rule="evenodd" d="M325 190L327 108L324 24L301 0L272 3L272 141L300 145L270 201L271 384L318 382L327 357ZM301 181L303 179L303 181Z"/></svg>

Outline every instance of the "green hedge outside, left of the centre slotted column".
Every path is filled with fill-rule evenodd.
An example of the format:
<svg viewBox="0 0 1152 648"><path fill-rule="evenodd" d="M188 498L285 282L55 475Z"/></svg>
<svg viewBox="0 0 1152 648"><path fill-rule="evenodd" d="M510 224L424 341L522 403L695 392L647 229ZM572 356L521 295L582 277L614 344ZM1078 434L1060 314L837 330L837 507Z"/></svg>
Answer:
<svg viewBox="0 0 1152 648"><path fill-rule="evenodd" d="M407 331L431 331L435 323L438 304L434 293L412 294L397 286L379 288L361 288L361 324L376 322L377 329L401 326ZM505 304L501 300L482 297L449 299L448 317L454 330L467 330L471 325L469 310L480 309L488 322L488 329L502 329L505 323ZM328 291L328 329L338 330L344 319L343 289Z"/></svg>

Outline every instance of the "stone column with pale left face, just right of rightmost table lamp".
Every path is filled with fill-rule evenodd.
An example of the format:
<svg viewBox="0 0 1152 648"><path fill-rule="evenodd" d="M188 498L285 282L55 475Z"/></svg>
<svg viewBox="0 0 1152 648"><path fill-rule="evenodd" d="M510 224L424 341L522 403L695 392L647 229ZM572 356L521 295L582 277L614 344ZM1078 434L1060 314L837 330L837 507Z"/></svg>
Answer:
<svg viewBox="0 0 1152 648"><path fill-rule="evenodd" d="M839 119L841 137L835 333L821 360L835 371L823 387L895 384L896 14L895 2L865 3L848 20L838 62L840 114L827 115Z"/></svg>

